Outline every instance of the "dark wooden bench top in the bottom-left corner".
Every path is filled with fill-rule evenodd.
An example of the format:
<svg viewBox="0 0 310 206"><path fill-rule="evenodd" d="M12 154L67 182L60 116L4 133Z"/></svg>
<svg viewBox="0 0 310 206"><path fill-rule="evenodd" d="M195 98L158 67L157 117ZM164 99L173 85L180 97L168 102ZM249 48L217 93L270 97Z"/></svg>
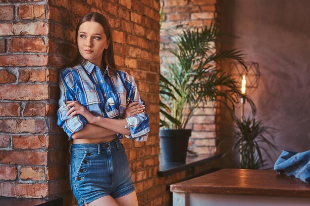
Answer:
<svg viewBox="0 0 310 206"><path fill-rule="evenodd" d="M62 204L62 198L35 199L0 197L0 206L62 206Z"/></svg>

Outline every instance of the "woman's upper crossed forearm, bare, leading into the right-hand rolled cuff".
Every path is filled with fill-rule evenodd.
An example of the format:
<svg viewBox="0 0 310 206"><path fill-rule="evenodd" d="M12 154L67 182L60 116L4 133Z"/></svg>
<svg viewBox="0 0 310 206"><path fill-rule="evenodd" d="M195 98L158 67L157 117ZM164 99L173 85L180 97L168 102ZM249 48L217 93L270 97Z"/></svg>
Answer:
<svg viewBox="0 0 310 206"><path fill-rule="evenodd" d="M117 120L117 119L96 117L93 124L104 127L108 130L112 130L116 133L130 135L130 129L125 128L125 125L127 124L126 119Z"/></svg>

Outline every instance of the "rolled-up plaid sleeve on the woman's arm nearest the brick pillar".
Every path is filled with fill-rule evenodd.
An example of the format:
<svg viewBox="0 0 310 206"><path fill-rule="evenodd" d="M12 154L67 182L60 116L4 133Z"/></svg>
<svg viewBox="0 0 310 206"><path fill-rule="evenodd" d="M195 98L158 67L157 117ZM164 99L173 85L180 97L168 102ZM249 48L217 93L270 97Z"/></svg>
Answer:
<svg viewBox="0 0 310 206"><path fill-rule="evenodd" d="M67 101L77 101L76 95L73 91L74 83L69 69L60 70L59 88L60 97L58 101L59 109L57 110L57 125L63 128L68 135L69 140L72 141L72 134L84 128L87 124L82 115L75 115L68 117L66 114L70 108L65 107Z"/></svg>

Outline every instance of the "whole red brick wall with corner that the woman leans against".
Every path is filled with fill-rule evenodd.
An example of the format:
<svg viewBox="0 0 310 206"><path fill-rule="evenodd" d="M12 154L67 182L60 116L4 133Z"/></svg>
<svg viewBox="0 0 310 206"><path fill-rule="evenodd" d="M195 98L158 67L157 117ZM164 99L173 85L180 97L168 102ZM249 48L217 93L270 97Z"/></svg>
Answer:
<svg viewBox="0 0 310 206"><path fill-rule="evenodd" d="M56 125L58 73L76 55L79 18L97 11L112 27L116 66L135 77L150 115L147 142L122 140L139 203L161 200L160 194L146 198L159 187L154 185L159 165L159 8L156 0L0 1L0 196L63 197L64 206L76 205L68 179L69 142Z"/></svg>

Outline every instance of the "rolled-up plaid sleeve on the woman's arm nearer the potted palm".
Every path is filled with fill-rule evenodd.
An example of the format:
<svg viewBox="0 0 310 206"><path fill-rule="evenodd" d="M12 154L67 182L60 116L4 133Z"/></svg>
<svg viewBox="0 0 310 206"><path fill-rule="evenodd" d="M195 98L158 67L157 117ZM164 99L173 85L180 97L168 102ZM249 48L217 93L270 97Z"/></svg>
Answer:
<svg viewBox="0 0 310 206"><path fill-rule="evenodd" d="M145 105L144 100L140 97L138 86L134 78L127 73L126 76L126 87L128 88L129 103L139 102L139 105ZM149 115L144 111L143 113L126 118L127 124L125 128L130 129L130 135L125 137L134 139L136 141L146 141L150 132L150 118Z"/></svg>

